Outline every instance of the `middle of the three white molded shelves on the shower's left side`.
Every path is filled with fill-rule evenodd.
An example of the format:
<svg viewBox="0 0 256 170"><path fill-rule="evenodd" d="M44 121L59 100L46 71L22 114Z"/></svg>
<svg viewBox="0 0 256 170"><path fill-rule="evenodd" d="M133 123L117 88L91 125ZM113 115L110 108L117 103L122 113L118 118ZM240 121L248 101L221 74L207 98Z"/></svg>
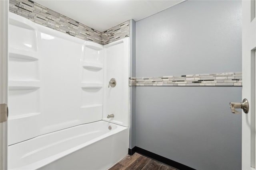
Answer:
<svg viewBox="0 0 256 170"><path fill-rule="evenodd" d="M10 80L8 81L9 90L32 90L40 88L38 80Z"/></svg>

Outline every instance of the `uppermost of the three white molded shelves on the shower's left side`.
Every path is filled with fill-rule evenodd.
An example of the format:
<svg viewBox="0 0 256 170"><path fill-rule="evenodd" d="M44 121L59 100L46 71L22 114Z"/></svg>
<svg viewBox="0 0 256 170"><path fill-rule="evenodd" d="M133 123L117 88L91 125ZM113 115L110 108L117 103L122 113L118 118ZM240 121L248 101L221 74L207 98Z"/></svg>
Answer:
<svg viewBox="0 0 256 170"><path fill-rule="evenodd" d="M22 59L27 61L38 60L38 55L36 51L27 51L17 48L9 48L9 57L14 59Z"/></svg>

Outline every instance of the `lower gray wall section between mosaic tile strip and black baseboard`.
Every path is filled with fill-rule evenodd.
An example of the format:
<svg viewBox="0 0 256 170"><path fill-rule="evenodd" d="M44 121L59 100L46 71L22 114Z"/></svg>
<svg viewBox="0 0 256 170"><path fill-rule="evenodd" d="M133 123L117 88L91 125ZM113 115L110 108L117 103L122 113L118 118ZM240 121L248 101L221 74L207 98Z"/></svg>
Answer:
<svg viewBox="0 0 256 170"><path fill-rule="evenodd" d="M241 169L241 87L137 87L136 146L198 170Z"/></svg>

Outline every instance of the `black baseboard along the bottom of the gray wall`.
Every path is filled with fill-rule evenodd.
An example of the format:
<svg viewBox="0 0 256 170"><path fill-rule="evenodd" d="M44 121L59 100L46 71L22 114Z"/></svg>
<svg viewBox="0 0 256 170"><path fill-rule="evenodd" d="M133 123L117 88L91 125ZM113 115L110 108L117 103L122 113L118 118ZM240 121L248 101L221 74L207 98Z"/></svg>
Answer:
<svg viewBox="0 0 256 170"><path fill-rule="evenodd" d="M153 152L150 152L148 150L145 150L145 149L142 149L142 148L139 148L139 147L134 147L134 148L128 150L129 155L133 155L135 152L137 152L139 154L142 154L142 155L145 155L147 157L150 157L150 158L152 158L154 160L157 160L159 162L162 162L164 164L170 165L170 166L172 166L174 168L177 168L179 170L195 170L194 168L190 168L189 166L186 166L184 164L180 164L178 162L175 162L174 160L170 160L168 158L165 158L164 156L160 156L158 154L155 154Z"/></svg>

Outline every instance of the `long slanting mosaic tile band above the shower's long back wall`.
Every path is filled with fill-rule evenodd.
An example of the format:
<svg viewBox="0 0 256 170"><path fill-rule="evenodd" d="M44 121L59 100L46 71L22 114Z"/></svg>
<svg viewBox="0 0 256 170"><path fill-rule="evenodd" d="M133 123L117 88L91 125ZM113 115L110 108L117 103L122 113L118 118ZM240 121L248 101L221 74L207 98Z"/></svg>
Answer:
<svg viewBox="0 0 256 170"><path fill-rule="evenodd" d="M10 0L9 11L40 25L101 44L101 32L72 20L32 0Z"/></svg>

